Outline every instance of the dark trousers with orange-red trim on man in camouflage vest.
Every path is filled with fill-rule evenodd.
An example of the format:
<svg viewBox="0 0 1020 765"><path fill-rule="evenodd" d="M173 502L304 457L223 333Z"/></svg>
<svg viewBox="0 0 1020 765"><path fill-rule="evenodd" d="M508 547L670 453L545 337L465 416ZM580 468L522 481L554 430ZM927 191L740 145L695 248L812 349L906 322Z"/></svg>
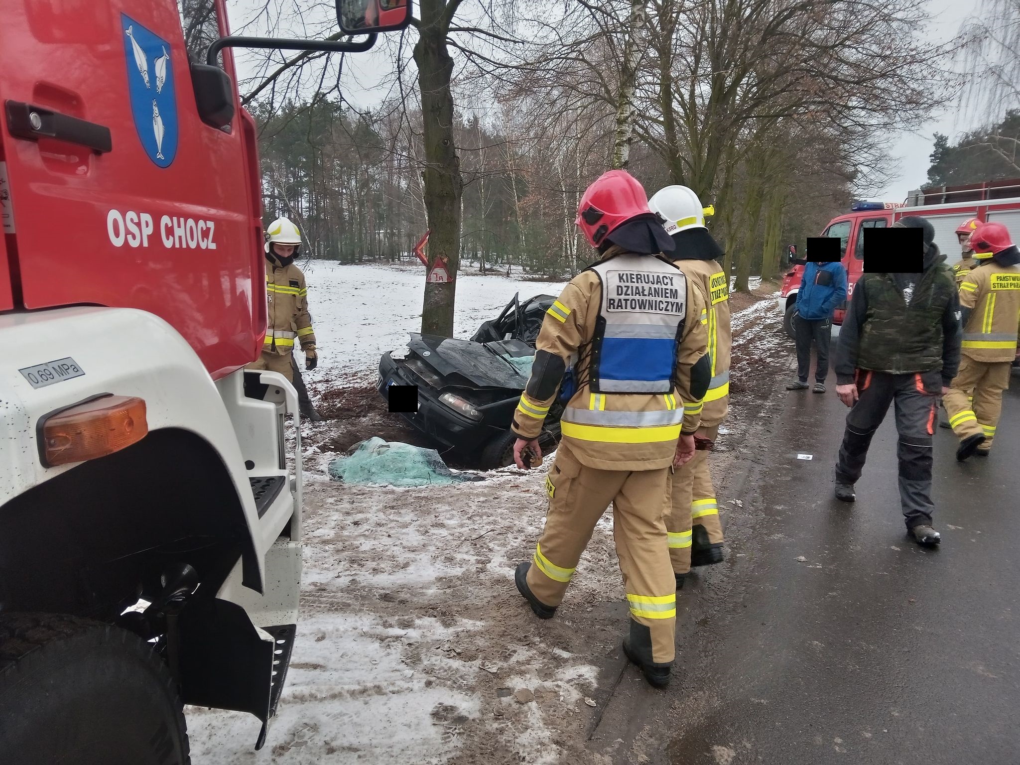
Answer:
<svg viewBox="0 0 1020 765"><path fill-rule="evenodd" d="M835 479L840 483L856 483L861 477L871 437L885 419L889 404L896 402L900 504L907 528L931 522L934 509L931 503L931 436L941 385L937 371L888 374L857 370L860 399L847 415Z"/></svg>

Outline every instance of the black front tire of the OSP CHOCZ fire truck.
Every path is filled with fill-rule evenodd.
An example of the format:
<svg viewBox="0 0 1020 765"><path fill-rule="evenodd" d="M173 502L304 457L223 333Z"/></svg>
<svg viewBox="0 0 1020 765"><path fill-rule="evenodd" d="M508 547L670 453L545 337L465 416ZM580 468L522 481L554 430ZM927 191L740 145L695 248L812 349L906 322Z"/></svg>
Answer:
<svg viewBox="0 0 1020 765"><path fill-rule="evenodd" d="M0 752L18 765L189 765L169 670L126 630L0 614Z"/></svg>

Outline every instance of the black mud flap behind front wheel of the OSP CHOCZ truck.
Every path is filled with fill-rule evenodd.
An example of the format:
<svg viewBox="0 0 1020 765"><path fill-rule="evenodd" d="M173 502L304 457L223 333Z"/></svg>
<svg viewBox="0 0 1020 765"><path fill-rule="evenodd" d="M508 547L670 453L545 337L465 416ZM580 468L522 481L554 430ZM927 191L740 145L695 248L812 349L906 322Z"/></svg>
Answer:
<svg viewBox="0 0 1020 765"><path fill-rule="evenodd" d="M185 704L249 712L262 721L265 744L294 646L295 625L252 624L245 610L214 598L180 615L181 698Z"/></svg>

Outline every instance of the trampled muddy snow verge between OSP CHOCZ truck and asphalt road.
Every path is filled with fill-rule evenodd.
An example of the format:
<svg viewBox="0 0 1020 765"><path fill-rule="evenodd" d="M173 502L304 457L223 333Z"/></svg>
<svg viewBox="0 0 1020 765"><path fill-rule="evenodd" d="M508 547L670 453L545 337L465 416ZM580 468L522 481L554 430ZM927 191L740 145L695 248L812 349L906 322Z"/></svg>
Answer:
<svg viewBox="0 0 1020 765"><path fill-rule="evenodd" d="M584 698L619 625L571 625L623 601L610 518L548 624L513 585L544 521L545 469L355 487L326 477L330 457L305 475L301 621L267 745L252 751L249 715L189 708L193 762L588 762L571 751L582 749Z"/></svg>

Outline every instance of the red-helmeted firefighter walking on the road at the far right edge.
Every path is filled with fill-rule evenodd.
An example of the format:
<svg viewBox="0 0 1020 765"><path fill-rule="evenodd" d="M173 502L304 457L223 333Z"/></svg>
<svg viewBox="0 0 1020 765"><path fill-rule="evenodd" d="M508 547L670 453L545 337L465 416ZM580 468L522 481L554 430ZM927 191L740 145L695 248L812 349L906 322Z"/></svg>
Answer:
<svg viewBox="0 0 1020 765"><path fill-rule="evenodd" d="M946 395L961 462L971 454L986 457L991 450L1016 358L1020 316L1020 250L1009 231L1002 223L981 223L970 235L970 245L978 265L960 283L962 358Z"/></svg>

